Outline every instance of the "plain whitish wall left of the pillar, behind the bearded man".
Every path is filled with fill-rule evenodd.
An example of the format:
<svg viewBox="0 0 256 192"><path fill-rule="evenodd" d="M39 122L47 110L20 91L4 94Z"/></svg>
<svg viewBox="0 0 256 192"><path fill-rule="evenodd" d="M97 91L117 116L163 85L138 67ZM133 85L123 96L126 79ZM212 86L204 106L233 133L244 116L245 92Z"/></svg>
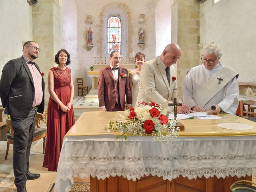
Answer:
<svg viewBox="0 0 256 192"><path fill-rule="evenodd" d="M22 56L23 43L32 40L32 6L26 1L1 0L0 74L4 65Z"/></svg>

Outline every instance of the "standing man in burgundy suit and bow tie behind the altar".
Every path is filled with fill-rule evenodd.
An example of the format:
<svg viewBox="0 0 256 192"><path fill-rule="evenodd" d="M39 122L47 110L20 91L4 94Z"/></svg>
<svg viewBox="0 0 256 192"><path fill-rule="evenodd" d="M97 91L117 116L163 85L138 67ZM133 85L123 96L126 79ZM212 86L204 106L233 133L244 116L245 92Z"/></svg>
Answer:
<svg viewBox="0 0 256 192"><path fill-rule="evenodd" d="M100 70L98 98L101 111L124 111L132 106L128 71L118 66L120 60L120 53L112 51L110 53L110 65Z"/></svg>

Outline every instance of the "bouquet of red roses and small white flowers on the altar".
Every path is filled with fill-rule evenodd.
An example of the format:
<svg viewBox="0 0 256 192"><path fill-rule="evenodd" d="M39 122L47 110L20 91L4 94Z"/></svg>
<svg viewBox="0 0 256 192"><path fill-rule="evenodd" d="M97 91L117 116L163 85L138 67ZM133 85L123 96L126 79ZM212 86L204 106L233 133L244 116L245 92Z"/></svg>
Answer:
<svg viewBox="0 0 256 192"><path fill-rule="evenodd" d="M168 120L168 115L164 114L162 106L155 102L139 102L138 108L130 108L125 111L128 117L125 121L109 121L109 131L121 132L116 138L127 135L152 135L154 141L172 141L178 136L175 128L177 120ZM106 128L106 127L105 127Z"/></svg>

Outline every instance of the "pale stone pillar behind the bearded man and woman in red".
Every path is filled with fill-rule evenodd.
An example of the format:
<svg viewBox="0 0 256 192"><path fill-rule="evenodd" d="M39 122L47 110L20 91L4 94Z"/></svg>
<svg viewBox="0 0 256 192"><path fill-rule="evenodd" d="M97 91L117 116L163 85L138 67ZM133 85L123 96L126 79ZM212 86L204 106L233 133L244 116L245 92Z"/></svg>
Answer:
<svg viewBox="0 0 256 192"><path fill-rule="evenodd" d="M33 6L33 40L41 52L36 63L44 72L45 104L48 105L48 70L54 66L54 56L61 49L61 12L59 0L40 0Z"/></svg>

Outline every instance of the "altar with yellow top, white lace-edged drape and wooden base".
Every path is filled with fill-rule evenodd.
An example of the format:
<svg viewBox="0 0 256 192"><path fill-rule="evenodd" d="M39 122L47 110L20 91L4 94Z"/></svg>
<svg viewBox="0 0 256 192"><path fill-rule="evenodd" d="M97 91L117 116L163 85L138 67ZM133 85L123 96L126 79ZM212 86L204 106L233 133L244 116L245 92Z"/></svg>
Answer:
<svg viewBox="0 0 256 192"><path fill-rule="evenodd" d="M256 123L218 116L224 119L181 120L186 129L169 145L151 136L116 140L118 133L104 126L123 112L84 112L64 138L54 191L69 191L80 176L90 177L91 192L229 192L236 180L256 175ZM216 126L222 122L254 128Z"/></svg>

